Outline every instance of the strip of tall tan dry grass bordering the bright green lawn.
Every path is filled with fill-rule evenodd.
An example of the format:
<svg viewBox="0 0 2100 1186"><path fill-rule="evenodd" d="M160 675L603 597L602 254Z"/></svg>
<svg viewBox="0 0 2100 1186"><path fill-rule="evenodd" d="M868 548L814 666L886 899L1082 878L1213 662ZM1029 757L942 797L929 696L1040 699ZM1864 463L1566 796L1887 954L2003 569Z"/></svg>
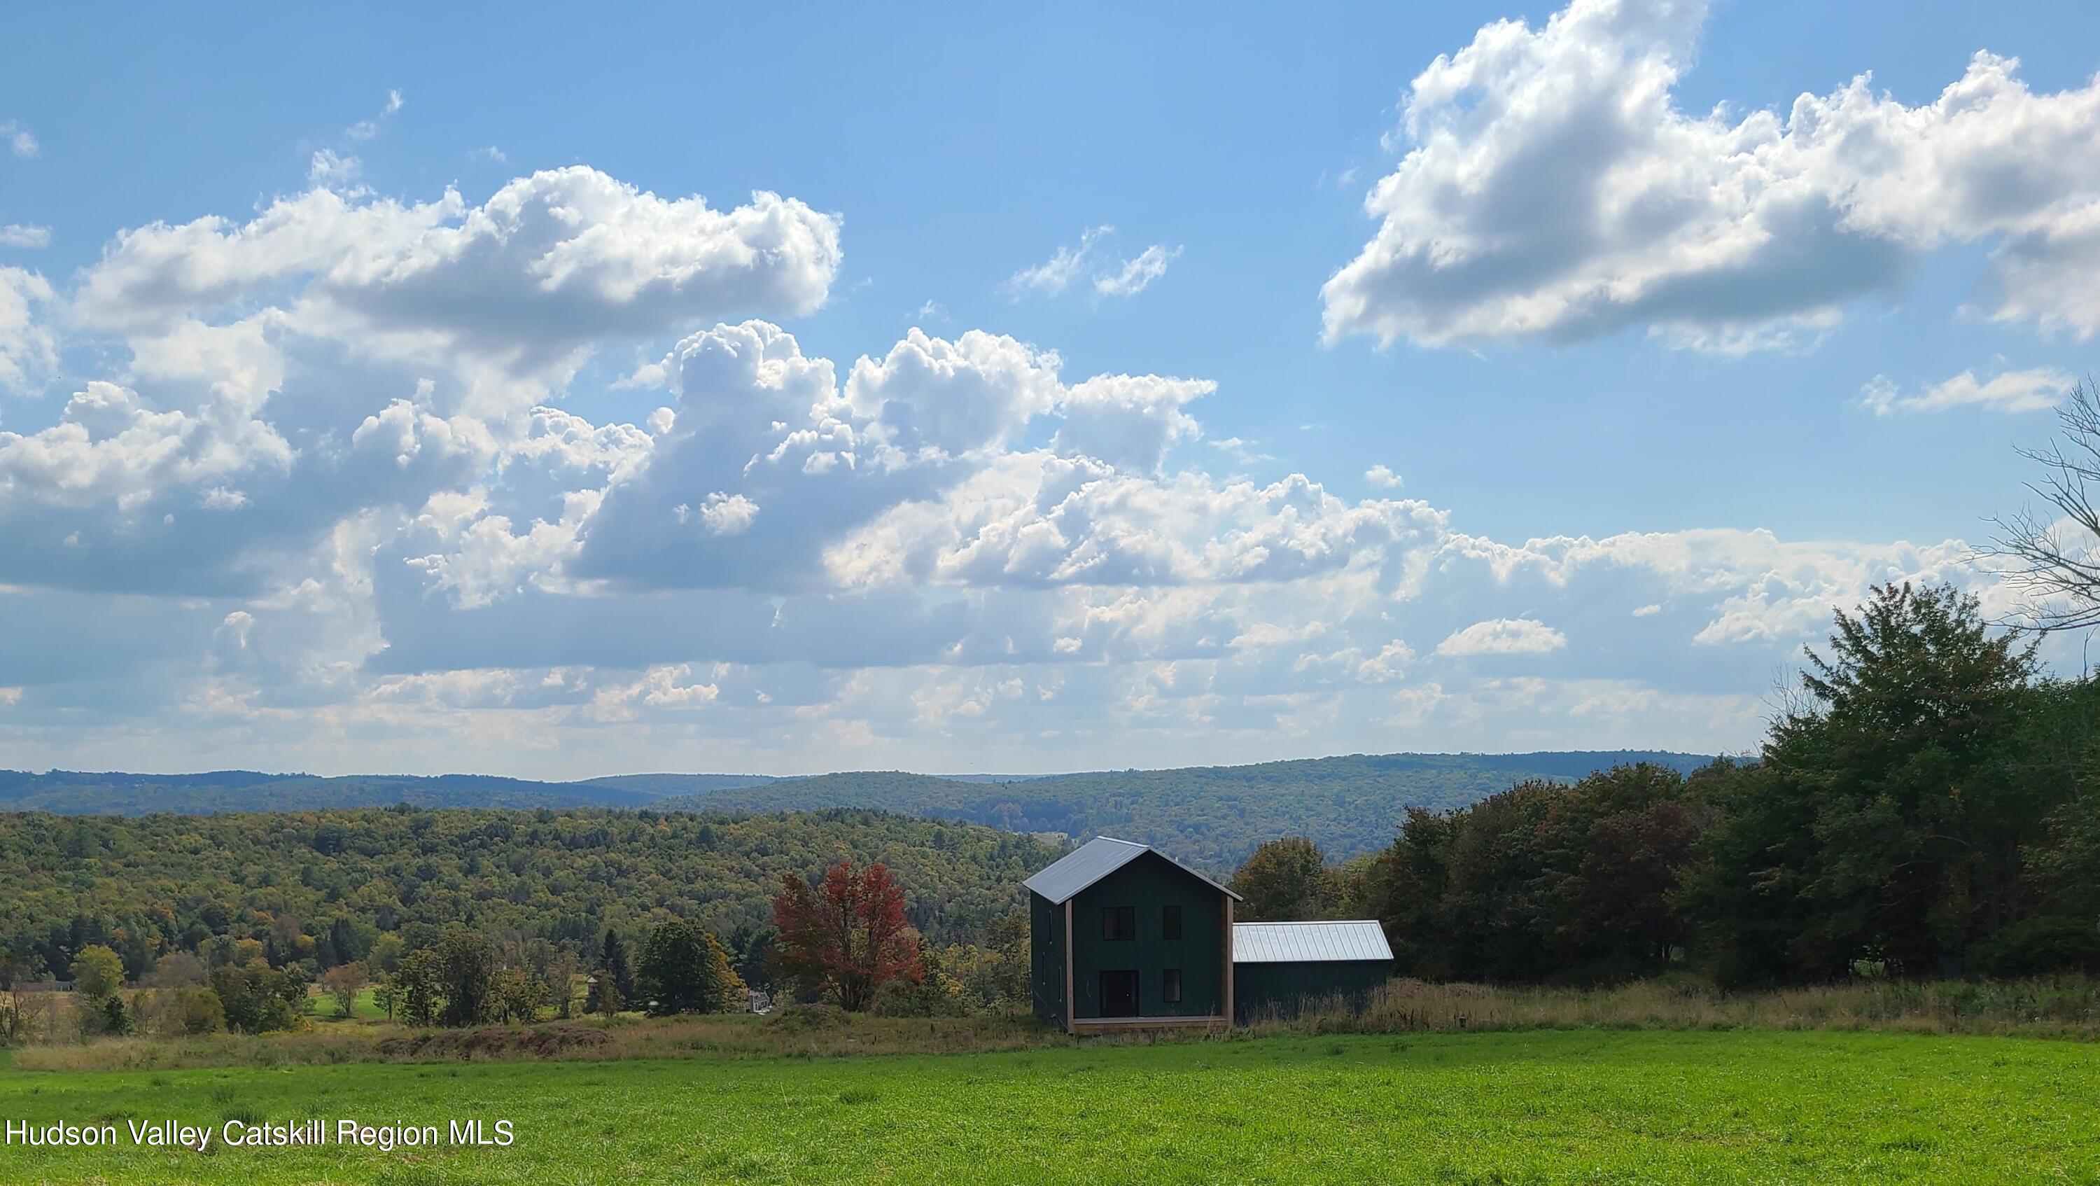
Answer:
<svg viewBox="0 0 2100 1186"><path fill-rule="evenodd" d="M1073 1039L1031 1016L880 1018L832 1008L771 1016L682 1016L416 1031L323 1022L304 1033L122 1037L29 1045L17 1071L168 1071L187 1066L313 1066L332 1062L848 1058L968 1054L1042 1045L1239 1041L1270 1035L1457 1033L1512 1029L1838 1029L2100 1039L2100 980L1867 980L1812 989L1722 993L1699 980L1617 989L1520 989L1392 980L1363 1008L1306 1001L1228 1033L1163 1031Z"/></svg>

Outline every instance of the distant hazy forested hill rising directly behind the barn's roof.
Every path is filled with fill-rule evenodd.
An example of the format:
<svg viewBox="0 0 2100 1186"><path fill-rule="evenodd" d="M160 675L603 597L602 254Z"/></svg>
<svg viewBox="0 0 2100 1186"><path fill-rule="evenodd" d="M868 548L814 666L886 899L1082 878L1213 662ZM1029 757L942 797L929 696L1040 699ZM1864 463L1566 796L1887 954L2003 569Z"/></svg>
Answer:
<svg viewBox="0 0 2100 1186"><path fill-rule="evenodd" d="M1014 783L962 783L878 770L779 779L754 787L666 798L657 806L666 810L880 806L1008 831L1119 835L1159 844L1182 861L1228 873L1254 852L1256 844L1279 835L1310 835L1329 856L1346 861L1390 844L1407 808L1466 806L1518 781L1573 781L1634 762L1690 772L1709 758L1663 751L1357 754L1258 766L1105 770Z"/></svg>

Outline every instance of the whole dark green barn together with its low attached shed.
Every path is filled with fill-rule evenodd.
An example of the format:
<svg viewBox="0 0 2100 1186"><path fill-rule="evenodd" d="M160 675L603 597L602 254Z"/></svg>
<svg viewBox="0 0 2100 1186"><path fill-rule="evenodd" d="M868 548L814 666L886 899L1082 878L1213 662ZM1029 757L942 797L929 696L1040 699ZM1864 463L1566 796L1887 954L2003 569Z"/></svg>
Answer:
<svg viewBox="0 0 2100 1186"><path fill-rule="evenodd" d="M1235 926L1239 894L1147 844L1090 840L1027 886L1035 1014L1067 1033L1361 1001L1392 968L1376 922Z"/></svg>

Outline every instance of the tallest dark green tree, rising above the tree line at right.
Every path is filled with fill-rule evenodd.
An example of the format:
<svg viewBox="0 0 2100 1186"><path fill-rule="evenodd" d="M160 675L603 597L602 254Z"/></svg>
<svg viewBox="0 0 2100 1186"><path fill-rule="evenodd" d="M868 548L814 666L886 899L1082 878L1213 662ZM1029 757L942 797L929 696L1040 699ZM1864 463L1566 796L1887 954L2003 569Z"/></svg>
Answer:
<svg viewBox="0 0 2100 1186"><path fill-rule="evenodd" d="M1804 701L1716 796L1686 905L1718 972L1829 978L1869 953L1953 970L2031 915L2022 848L2075 785L2064 758L2090 751L2066 691L2033 674L2033 647L1951 588L1882 586L1840 611Z"/></svg>

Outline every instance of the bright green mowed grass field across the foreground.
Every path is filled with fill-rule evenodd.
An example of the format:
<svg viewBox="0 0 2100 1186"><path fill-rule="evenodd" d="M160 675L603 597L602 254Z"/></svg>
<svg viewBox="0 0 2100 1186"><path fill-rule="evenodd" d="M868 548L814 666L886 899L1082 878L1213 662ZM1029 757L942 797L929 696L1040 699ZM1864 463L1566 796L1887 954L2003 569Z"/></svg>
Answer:
<svg viewBox="0 0 2100 1186"><path fill-rule="evenodd" d="M2094 1182L2100 1047L1544 1031L0 1071L0 1119L508 1119L510 1148L0 1148L6 1182ZM216 1146L216 1140L214 1140Z"/></svg>

